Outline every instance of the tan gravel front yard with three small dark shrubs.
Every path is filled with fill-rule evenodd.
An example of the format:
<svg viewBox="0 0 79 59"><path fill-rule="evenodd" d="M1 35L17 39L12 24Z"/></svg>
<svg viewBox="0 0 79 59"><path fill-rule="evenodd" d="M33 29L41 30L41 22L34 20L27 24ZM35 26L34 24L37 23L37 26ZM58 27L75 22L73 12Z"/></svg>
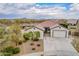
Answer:
<svg viewBox="0 0 79 59"><path fill-rule="evenodd" d="M16 56L26 55L34 52L41 52L44 49L43 40L39 40L39 41L28 40L22 45L19 45L19 47L20 47L20 53L16 54Z"/></svg>

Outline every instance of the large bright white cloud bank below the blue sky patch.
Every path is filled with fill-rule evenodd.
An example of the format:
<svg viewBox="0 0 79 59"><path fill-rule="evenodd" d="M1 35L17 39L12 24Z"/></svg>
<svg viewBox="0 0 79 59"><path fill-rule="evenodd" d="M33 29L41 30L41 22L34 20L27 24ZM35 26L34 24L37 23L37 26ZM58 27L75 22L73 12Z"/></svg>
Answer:
<svg viewBox="0 0 79 59"><path fill-rule="evenodd" d="M35 7L29 10L31 13L28 12L29 16L34 18L54 18L54 19L77 19L79 18L78 11L66 10L66 7L55 6L52 8L46 9L37 9ZM33 12L33 13L32 13ZM36 17L35 17L36 16Z"/></svg>

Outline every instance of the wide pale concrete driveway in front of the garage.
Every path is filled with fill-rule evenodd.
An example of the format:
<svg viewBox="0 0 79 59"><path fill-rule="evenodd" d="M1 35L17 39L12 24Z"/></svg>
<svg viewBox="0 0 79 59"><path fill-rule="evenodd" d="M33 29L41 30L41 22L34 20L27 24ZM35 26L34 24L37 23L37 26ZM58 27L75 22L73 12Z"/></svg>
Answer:
<svg viewBox="0 0 79 59"><path fill-rule="evenodd" d="M77 51L69 38L44 38L44 55L74 56Z"/></svg>

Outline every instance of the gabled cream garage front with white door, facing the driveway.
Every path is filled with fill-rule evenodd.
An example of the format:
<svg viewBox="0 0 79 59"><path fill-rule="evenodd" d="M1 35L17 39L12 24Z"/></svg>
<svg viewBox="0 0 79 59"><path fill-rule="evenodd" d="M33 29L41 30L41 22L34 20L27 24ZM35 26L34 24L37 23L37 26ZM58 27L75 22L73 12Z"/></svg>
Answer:
<svg viewBox="0 0 79 59"><path fill-rule="evenodd" d="M68 30L66 28L63 28L61 26L57 26L55 28L51 29L51 36L52 37L61 37L61 38L67 38L68 37Z"/></svg>

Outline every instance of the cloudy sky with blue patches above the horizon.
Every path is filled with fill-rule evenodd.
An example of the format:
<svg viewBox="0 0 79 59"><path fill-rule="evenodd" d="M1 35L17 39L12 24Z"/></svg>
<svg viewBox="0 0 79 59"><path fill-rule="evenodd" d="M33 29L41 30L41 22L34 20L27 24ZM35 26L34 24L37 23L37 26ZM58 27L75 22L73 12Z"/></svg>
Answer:
<svg viewBox="0 0 79 59"><path fill-rule="evenodd" d="M0 18L79 19L79 4L0 3Z"/></svg>

